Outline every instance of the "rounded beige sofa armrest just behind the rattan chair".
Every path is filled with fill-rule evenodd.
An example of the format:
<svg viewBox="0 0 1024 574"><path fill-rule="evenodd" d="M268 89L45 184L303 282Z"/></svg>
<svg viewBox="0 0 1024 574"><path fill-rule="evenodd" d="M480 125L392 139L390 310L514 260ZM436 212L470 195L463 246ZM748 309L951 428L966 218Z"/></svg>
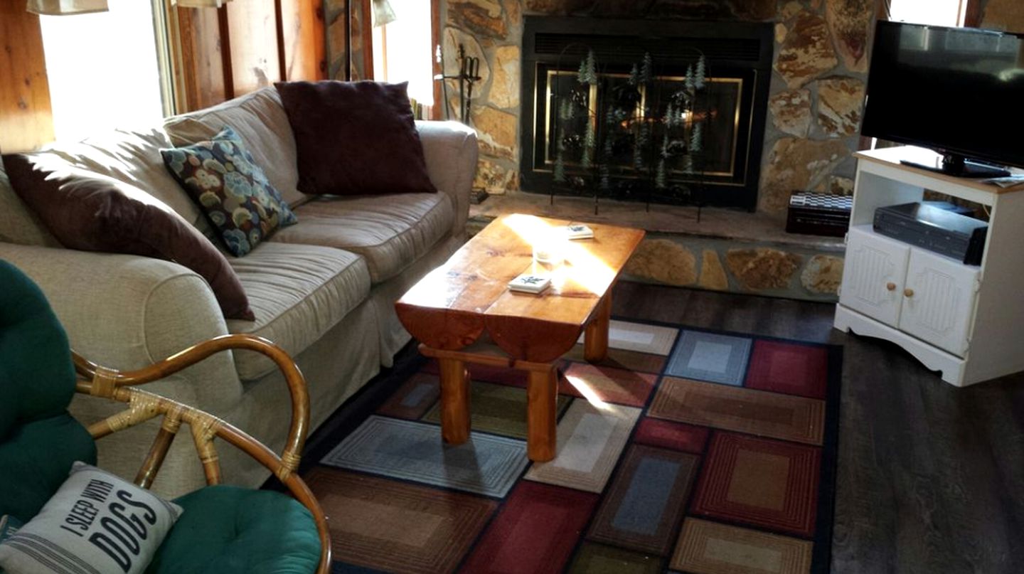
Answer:
<svg viewBox="0 0 1024 574"><path fill-rule="evenodd" d="M171 261L0 243L0 258L43 290L72 347L116 369L138 369L227 334L206 280ZM230 353L162 381L160 393L224 412L241 401Z"/></svg>

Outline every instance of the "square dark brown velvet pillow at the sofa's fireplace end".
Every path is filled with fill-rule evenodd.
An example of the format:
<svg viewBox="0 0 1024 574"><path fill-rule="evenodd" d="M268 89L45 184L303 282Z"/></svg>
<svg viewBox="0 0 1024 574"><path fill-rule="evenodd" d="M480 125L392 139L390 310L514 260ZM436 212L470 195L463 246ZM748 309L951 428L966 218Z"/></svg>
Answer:
<svg viewBox="0 0 1024 574"><path fill-rule="evenodd" d="M408 82L279 82L304 194L435 193Z"/></svg>

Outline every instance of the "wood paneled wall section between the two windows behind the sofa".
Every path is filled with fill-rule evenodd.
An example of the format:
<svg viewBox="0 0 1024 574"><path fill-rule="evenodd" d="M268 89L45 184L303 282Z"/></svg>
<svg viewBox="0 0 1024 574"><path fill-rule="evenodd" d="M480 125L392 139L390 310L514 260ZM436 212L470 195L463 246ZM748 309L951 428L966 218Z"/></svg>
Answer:
<svg viewBox="0 0 1024 574"><path fill-rule="evenodd" d="M169 9L177 28L171 38L177 42L178 112L281 80L327 78L324 0L232 0L221 8Z"/></svg>

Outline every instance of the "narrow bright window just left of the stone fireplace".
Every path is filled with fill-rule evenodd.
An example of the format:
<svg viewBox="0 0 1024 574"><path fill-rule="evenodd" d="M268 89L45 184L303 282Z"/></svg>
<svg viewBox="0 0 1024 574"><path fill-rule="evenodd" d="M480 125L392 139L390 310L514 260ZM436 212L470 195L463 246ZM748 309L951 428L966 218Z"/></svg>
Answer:
<svg viewBox="0 0 1024 574"><path fill-rule="evenodd" d="M374 28L374 78L384 82L408 81L410 97L424 106L433 106L431 2L389 2L395 19Z"/></svg>

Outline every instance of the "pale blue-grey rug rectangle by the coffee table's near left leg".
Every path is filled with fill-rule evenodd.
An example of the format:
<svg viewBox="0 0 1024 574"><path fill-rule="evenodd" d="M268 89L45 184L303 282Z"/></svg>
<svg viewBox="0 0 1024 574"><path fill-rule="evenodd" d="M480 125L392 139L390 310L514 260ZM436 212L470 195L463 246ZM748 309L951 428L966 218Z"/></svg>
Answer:
<svg viewBox="0 0 1024 574"><path fill-rule="evenodd" d="M451 446L440 426L373 415L321 462L501 498L527 458L524 441L471 433Z"/></svg>

